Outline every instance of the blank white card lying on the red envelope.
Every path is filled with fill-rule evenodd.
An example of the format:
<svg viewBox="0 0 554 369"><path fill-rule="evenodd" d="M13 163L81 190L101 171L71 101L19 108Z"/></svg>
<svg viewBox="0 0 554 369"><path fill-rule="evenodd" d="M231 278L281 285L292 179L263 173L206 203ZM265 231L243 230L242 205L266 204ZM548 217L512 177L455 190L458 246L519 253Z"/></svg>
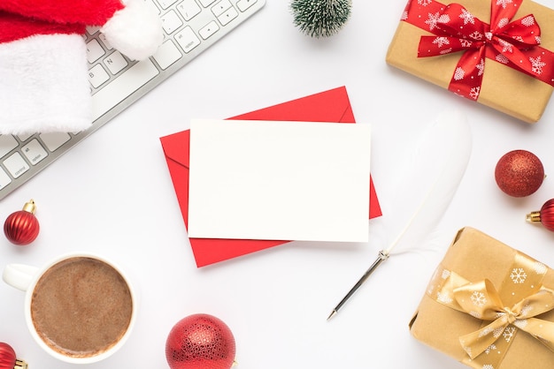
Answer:
<svg viewBox="0 0 554 369"><path fill-rule="evenodd" d="M189 237L366 242L369 124L196 119Z"/></svg>

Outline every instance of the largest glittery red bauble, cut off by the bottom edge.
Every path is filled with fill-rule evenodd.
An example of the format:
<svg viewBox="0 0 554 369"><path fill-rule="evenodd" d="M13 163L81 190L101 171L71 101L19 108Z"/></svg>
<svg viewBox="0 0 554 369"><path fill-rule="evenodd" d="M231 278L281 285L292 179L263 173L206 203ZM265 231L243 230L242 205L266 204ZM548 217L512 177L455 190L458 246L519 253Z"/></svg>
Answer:
<svg viewBox="0 0 554 369"><path fill-rule="evenodd" d="M235 362L235 337L212 315L189 315L167 336L165 358L171 369L229 369Z"/></svg>

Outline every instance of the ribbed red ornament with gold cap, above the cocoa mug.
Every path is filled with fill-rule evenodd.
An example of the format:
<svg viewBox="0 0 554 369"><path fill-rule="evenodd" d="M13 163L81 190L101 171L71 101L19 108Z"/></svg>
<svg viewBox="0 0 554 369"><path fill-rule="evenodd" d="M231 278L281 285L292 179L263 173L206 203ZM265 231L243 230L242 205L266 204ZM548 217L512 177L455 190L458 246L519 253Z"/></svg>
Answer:
<svg viewBox="0 0 554 369"><path fill-rule="evenodd" d="M8 216L4 222L4 234L12 244L28 245L35 241L40 230L35 210L35 201L29 200L23 210Z"/></svg>

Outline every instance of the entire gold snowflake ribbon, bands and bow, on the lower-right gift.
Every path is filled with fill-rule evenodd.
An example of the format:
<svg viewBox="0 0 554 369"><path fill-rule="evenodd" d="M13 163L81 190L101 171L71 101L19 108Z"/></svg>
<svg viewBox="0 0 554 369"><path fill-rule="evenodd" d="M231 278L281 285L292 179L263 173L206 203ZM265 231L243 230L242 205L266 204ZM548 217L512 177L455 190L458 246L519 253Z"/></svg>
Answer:
<svg viewBox="0 0 554 369"><path fill-rule="evenodd" d="M542 285L547 269L517 252L499 290L488 279L469 282L442 265L436 269L427 289L429 297L482 320L481 328L459 337L468 355L463 360L466 365L496 368L518 329L554 351L554 322L537 318L554 309L554 290Z"/></svg>

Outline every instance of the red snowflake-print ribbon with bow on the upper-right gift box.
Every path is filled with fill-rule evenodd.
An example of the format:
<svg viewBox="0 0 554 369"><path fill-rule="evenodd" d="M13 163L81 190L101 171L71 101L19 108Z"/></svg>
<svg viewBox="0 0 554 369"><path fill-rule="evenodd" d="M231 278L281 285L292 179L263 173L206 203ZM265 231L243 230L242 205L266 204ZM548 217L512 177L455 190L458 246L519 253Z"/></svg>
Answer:
<svg viewBox="0 0 554 369"><path fill-rule="evenodd" d="M420 20L419 26L435 35L421 36L418 56L441 56L463 51L450 79L449 90L471 100L477 100L481 92L485 58L553 85L554 57L548 50L539 47L541 29L535 17L529 14L512 21L522 2L491 0L490 24L477 19L460 4L437 9L436 6L442 4L434 2L435 6L428 8L427 19ZM412 3L415 4L415 1L408 4L407 11L411 11ZM421 8L433 2L418 0L417 3Z"/></svg>

